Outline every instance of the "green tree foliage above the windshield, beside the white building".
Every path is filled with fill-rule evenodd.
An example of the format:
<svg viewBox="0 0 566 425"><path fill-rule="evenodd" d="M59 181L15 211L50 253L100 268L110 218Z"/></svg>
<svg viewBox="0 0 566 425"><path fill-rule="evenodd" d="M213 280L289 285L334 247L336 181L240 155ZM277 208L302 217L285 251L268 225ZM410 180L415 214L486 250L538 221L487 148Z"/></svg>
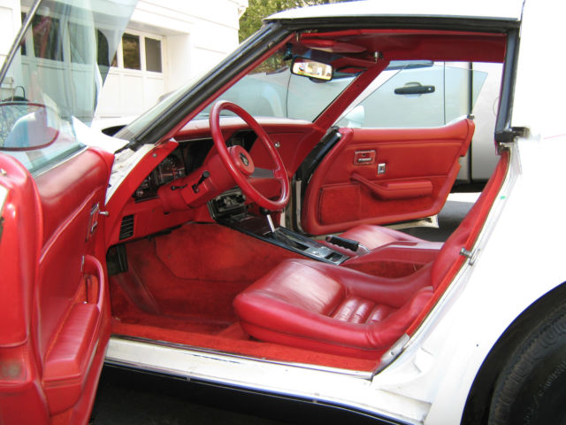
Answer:
<svg viewBox="0 0 566 425"><path fill-rule="evenodd" d="M328 3L337 3L337 0L249 0L248 9L240 19L240 42L262 27L262 19L275 12Z"/></svg>

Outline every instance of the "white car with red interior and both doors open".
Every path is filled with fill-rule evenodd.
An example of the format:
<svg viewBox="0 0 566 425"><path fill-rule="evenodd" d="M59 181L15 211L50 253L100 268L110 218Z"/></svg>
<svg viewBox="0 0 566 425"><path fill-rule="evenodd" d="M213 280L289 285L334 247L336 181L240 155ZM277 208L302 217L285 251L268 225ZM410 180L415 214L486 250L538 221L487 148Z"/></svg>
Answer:
<svg viewBox="0 0 566 425"><path fill-rule="evenodd" d="M0 70L0 423L86 423L104 362L380 423L564 421L560 4L280 12L108 139L98 62L133 8L38 2ZM498 163L445 243L384 225L438 213L486 127L351 125L393 61L502 66ZM281 62L319 111L294 115L312 84L285 116L221 100Z"/></svg>

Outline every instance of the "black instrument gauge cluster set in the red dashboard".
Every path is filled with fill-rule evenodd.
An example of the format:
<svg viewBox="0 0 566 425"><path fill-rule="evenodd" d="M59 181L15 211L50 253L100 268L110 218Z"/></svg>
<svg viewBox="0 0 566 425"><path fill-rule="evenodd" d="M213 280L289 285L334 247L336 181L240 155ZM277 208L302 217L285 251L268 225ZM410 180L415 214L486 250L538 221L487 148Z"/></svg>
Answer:
<svg viewBox="0 0 566 425"><path fill-rule="evenodd" d="M236 132L227 141L227 146L240 145L250 151L256 140L256 134L250 130ZM211 138L178 141L179 146L145 178L135 189L135 202L142 202L157 197L157 189L175 180L191 174L209 156L214 145Z"/></svg>

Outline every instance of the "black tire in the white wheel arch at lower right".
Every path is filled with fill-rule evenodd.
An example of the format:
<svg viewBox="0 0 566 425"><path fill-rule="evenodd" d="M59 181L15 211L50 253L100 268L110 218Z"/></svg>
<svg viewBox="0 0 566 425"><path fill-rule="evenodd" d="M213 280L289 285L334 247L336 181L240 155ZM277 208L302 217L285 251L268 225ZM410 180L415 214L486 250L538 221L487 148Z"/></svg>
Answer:
<svg viewBox="0 0 566 425"><path fill-rule="evenodd" d="M490 425L566 425L566 306L539 321L495 382Z"/></svg>

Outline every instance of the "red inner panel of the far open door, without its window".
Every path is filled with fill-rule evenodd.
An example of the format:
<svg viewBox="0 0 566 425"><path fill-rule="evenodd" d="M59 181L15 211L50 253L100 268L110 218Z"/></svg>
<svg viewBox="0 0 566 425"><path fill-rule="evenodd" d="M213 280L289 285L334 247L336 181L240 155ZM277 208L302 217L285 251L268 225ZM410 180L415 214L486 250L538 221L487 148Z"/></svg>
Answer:
<svg viewBox="0 0 566 425"><path fill-rule="evenodd" d="M442 128L340 128L302 203L311 235L440 212L473 135L471 120Z"/></svg>

